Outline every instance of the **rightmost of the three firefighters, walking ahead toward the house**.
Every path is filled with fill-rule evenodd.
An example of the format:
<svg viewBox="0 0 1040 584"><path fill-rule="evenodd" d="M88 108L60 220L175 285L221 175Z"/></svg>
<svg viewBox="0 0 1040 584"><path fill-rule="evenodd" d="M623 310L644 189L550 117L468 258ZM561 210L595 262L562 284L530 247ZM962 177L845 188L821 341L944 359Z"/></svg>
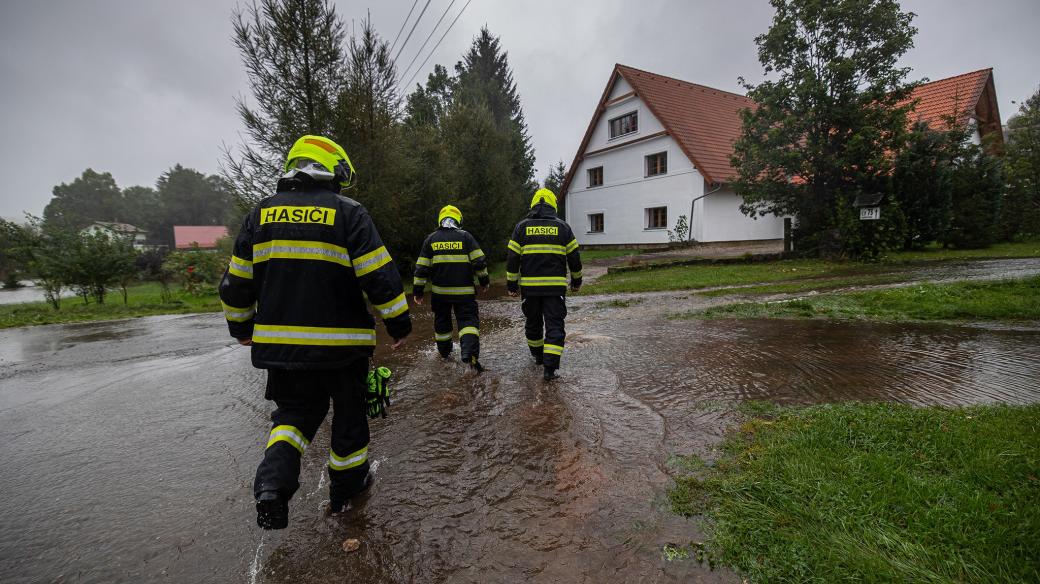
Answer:
<svg viewBox="0 0 1040 584"><path fill-rule="evenodd" d="M511 296L521 296L524 334L546 381L557 377L564 354L567 272L572 291L581 287L581 257L571 227L556 216L556 195L539 189L530 212L510 238L505 280Z"/></svg>

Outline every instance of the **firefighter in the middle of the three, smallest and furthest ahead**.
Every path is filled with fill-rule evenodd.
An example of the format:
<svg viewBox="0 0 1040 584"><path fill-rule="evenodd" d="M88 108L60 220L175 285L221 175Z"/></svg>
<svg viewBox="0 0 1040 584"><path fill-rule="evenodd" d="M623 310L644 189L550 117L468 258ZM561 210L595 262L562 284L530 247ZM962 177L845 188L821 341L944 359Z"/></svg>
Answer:
<svg viewBox="0 0 1040 584"><path fill-rule="evenodd" d="M422 242L412 283L412 296L417 304L422 303L423 291L430 284L434 338L441 356L447 359L451 354L451 312L454 311L462 361L477 372L484 368L478 361L480 316L474 281L488 290L487 262L480 244L462 229L462 211L448 205L437 217L437 231Z"/></svg>

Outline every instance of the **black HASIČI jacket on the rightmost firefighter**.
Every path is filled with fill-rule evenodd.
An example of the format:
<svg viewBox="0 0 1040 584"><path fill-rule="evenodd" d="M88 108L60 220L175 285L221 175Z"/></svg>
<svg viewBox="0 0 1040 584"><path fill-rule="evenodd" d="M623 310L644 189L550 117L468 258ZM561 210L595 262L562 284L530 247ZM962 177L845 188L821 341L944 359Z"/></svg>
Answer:
<svg viewBox="0 0 1040 584"><path fill-rule="evenodd" d="M571 286L581 287L581 256L571 227L545 203L539 203L517 223L505 258L510 292L527 296L563 296L567 293L567 270Z"/></svg>

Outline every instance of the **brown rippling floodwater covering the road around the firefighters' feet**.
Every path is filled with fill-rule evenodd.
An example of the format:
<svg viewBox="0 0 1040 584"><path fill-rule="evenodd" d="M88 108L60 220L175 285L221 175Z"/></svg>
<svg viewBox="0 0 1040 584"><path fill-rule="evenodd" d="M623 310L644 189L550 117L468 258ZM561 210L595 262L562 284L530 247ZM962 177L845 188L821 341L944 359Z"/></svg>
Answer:
<svg viewBox="0 0 1040 584"><path fill-rule="evenodd" d="M372 492L328 517L328 427L290 528L255 525L263 373L219 315L0 331L0 581L737 582L668 542L669 456L706 454L733 402L1040 400L1040 329L670 320L709 301L570 302L546 384L519 304L482 303L484 375L442 362L425 307L372 422ZM458 354L458 353L456 353ZM344 538L361 540L353 554Z"/></svg>

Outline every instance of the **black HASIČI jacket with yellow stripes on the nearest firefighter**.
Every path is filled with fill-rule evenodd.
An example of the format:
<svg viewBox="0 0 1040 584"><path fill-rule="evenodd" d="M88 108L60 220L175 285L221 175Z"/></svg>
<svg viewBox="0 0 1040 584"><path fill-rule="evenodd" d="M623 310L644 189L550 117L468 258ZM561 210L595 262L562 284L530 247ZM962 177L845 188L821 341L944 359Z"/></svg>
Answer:
<svg viewBox="0 0 1040 584"><path fill-rule="evenodd" d="M368 301L412 330L400 275L368 211L309 179L281 180L245 217L220 282L231 336L261 369L334 369L375 348Z"/></svg>

